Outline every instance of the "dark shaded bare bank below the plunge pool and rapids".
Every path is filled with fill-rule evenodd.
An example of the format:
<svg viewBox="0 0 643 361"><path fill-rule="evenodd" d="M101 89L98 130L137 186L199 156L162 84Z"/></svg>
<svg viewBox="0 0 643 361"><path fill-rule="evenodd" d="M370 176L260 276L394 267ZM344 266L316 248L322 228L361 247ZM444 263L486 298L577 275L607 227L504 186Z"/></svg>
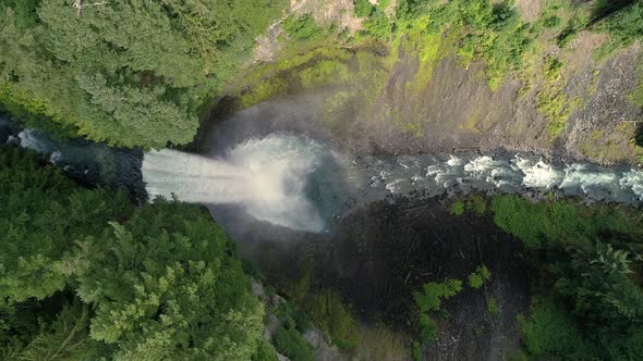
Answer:
<svg viewBox="0 0 643 361"><path fill-rule="evenodd" d="M530 306L526 251L489 214L458 216L448 199L400 197L361 207L320 239L271 235L270 227L263 227L263 236L274 239L266 244L247 228L241 233L243 254L268 283L287 292L306 285L298 291L303 303L320 290L337 289L361 322L369 327L384 323L404 335L407 345L417 329L413 294L433 281L466 281L484 264L493 274L488 289L465 288L449 301L449 315L440 319L438 337L425 356L496 360L520 349L515 316L529 313ZM489 313L489 301L497 303L497 314Z"/></svg>

